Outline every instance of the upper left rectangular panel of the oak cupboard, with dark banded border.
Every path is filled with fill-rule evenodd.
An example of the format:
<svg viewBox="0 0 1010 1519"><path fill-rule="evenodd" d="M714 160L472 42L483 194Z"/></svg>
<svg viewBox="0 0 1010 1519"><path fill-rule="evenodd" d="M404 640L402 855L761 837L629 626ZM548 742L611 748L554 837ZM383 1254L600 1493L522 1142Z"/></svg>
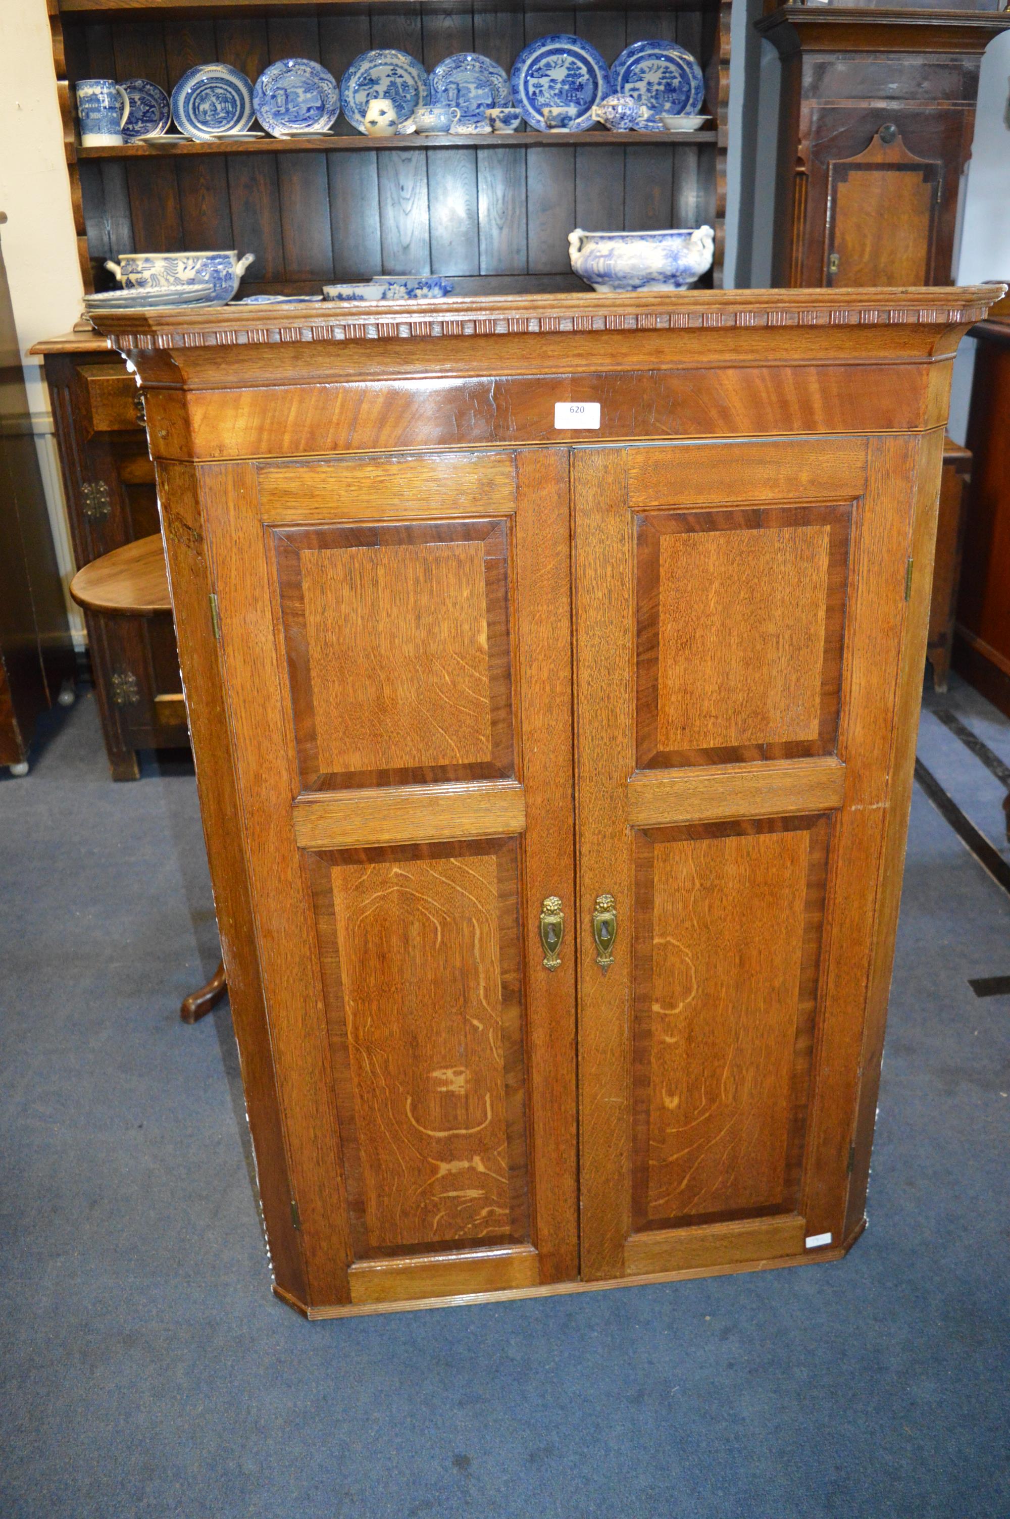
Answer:
<svg viewBox="0 0 1010 1519"><path fill-rule="evenodd" d="M513 773L509 532L273 532L304 790Z"/></svg>

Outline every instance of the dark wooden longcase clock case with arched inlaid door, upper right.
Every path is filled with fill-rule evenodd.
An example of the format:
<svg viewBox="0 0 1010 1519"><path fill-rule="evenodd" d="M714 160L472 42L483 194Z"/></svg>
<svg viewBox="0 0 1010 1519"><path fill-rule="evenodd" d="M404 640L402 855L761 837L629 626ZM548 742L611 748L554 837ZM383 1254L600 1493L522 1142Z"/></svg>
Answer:
<svg viewBox="0 0 1010 1519"><path fill-rule="evenodd" d="M995 5L785 5L758 30L782 59L776 286L951 284L961 173Z"/></svg>

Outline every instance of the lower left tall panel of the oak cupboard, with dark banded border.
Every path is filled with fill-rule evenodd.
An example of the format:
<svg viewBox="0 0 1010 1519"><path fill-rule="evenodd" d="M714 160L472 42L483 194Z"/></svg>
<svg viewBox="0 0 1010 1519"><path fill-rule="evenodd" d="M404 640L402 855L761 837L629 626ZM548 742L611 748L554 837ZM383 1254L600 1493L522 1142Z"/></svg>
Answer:
<svg viewBox="0 0 1010 1519"><path fill-rule="evenodd" d="M529 1240L516 842L307 869L355 1259Z"/></svg>

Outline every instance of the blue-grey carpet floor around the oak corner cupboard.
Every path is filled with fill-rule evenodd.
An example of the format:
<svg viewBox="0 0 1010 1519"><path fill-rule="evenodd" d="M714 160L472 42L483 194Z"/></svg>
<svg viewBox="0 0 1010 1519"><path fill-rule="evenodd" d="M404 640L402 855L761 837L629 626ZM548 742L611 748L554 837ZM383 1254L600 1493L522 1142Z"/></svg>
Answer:
<svg viewBox="0 0 1010 1519"><path fill-rule="evenodd" d="M84 699L0 849L3 1519L1010 1514L1010 998L967 987L1010 898L920 791L846 1261L324 1325L269 1293L226 1004L178 1019L217 958L188 766L112 785Z"/></svg>

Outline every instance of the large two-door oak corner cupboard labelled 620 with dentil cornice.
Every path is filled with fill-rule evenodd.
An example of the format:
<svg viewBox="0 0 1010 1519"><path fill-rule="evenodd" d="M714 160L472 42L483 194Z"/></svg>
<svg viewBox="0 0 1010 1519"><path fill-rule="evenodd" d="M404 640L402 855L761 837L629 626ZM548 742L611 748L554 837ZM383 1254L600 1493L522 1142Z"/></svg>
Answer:
<svg viewBox="0 0 1010 1519"><path fill-rule="evenodd" d="M102 321L287 1302L858 1236L951 355L996 293Z"/></svg>

